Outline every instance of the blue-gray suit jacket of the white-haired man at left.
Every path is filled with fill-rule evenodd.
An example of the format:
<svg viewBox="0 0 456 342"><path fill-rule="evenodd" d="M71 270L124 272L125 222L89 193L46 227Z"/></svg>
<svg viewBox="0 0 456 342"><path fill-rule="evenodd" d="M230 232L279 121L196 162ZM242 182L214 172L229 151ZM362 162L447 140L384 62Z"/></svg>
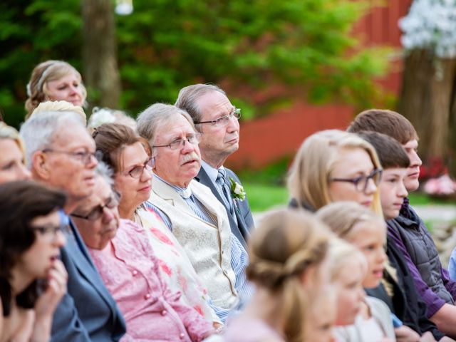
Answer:
<svg viewBox="0 0 456 342"><path fill-rule="evenodd" d="M125 321L113 297L93 265L73 222L73 234L61 249L68 272L68 291L58 304L52 322L51 341L119 341Z"/></svg>

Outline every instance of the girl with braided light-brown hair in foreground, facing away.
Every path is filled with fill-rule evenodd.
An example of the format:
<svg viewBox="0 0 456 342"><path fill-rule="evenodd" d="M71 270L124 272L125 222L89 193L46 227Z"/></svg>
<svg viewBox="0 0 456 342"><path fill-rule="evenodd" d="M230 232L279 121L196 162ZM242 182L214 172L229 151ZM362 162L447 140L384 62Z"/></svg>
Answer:
<svg viewBox="0 0 456 342"><path fill-rule="evenodd" d="M330 237L324 224L301 210L281 209L264 217L249 239L247 277L257 291L229 322L225 341L309 341L309 309L329 284Z"/></svg>

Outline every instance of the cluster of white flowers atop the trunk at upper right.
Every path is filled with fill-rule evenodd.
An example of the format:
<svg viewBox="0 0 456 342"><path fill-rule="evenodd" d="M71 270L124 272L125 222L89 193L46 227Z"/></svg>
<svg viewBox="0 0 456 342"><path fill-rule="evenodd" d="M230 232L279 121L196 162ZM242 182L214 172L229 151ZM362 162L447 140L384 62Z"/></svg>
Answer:
<svg viewBox="0 0 456 342"><path fill-rule="evenodd" d="M406 50L428 48L440 58L456 57L456 0L415 0L399 27Z"/></svg>

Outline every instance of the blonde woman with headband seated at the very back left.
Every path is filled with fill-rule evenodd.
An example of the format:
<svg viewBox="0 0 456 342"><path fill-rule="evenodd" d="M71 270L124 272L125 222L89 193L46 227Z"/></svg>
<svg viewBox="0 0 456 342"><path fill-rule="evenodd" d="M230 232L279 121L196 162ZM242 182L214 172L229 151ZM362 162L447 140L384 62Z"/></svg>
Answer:
<svg viewBox="0 0 456 342"><path fill-rule="evenodd" d="M87 90L81 73L65 61L39 63L27 84L26 119L39 103L51 100L66 100L73 105L83 106Z"/></svg>

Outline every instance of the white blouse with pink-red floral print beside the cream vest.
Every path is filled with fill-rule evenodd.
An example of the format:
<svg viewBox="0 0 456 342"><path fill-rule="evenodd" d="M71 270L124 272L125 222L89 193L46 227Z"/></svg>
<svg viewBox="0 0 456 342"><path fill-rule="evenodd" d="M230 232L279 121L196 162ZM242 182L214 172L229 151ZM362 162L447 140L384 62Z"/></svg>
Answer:
<svg viewBox="0 0 456 342"><path fill-rule="evenodd" d="M140 207L136 212L137 223L146 229L150 244L160 262L163 278L171 291L182 292L182 301L192 306L208 321L219 321L207 304L207 289L199 280L184 249L152 209Z"/></svg>

